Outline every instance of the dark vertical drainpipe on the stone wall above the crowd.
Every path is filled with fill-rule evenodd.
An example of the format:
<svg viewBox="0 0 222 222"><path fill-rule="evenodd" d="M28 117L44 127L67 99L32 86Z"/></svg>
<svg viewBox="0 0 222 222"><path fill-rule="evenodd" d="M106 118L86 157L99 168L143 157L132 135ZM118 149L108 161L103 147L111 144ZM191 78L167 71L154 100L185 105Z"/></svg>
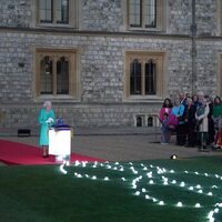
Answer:
<svg viewBox="0 0 222 222"><path fill-rule="evenodd" d="M192 0L192 24L191 24L191 37L192 37L192 49L191 49L191 59L192 59L192 73L191 73L191 93L196 92L196 31L198 27L195 23L195 0Z"/></svg>

